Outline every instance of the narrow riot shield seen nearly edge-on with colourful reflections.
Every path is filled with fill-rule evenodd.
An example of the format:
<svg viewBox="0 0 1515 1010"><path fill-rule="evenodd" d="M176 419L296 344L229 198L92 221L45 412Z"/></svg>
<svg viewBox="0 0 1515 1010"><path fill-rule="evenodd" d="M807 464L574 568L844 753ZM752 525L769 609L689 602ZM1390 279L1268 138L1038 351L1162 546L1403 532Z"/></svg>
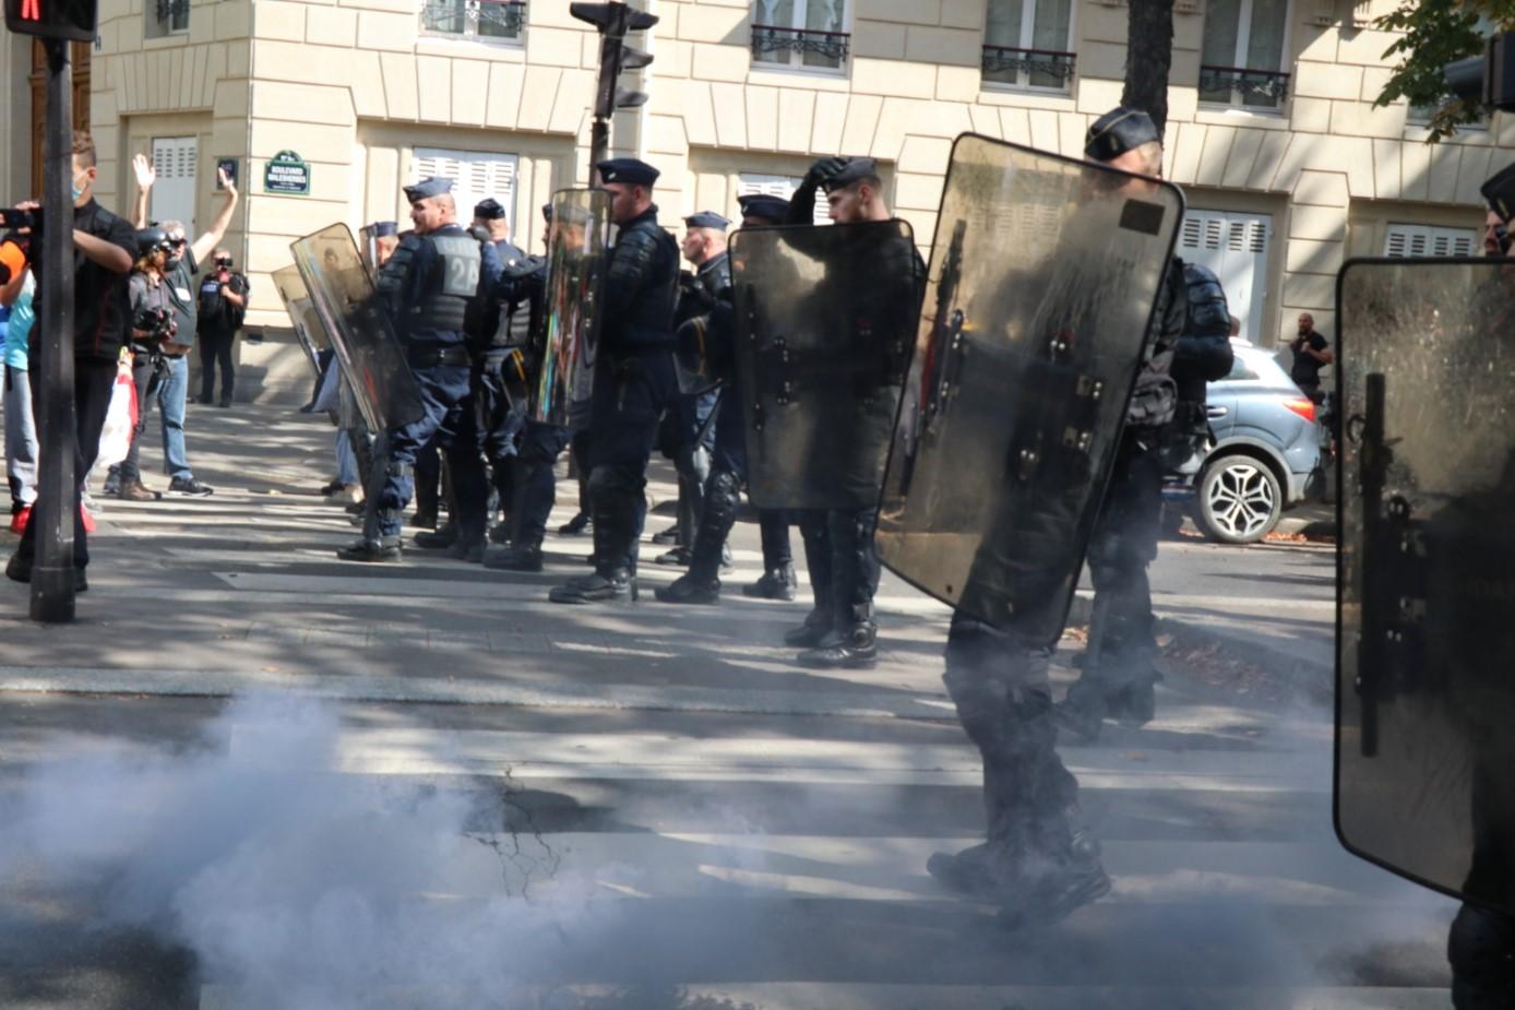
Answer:
<svg viewBox="0 0 1515 1010"><path fill-rule="evenodd" d="M609 193L562 190L553 196L542 314L547 332L532 397L533 420L565 428L589 423L609 237Z"/></svg>

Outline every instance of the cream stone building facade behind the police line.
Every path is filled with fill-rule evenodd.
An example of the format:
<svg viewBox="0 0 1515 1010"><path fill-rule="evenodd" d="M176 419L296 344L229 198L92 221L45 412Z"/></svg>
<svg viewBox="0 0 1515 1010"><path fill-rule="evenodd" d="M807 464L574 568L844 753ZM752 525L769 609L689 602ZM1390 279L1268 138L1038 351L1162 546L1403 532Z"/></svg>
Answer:
<svg viewBox="0 0 1515 1010"><path fill-rule="evenodd" d="M923 243L951 140L974 130L1077 155L1121 93L1123 0L638 0L661 21L629 85L617 152L664 170L667 221L735 217L744 190L785 191L818 155L880 159ZM1477 187L1515 159L1515 117L1427 146L1403 103L1374 108L1388 0L1179 0L1167 174L1188 194L1183 255L1227 282L1244 334L1270 343L1312 311L1332 331L1348 255L1474 249ZM1380 9L1383 8L1383 9ZM91 123L100 191L124 205L153 152L155 217L209 221L235 159L232 249L251 325L279 326L267 273L332 221L403 217L400 185L444 171L497 196L538 247L536 208L589 174L598 39L568 0L102 0ZM12 39L14 41L14 39ZM17 52L21 52L20 49ZM17 61L0 121L23 150ZM1244 70L1238 70L1244 68ZM308 194L270 193L282 152ZM11 196L20 196L15 168ZM676 221L674 221L676 223Z"/></svg>

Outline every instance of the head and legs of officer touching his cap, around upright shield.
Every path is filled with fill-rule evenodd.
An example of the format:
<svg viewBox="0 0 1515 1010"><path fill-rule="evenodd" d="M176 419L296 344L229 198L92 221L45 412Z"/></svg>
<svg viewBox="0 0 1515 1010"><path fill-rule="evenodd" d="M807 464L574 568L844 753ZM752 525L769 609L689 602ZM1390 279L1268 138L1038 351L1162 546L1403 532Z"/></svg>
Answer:
<svg viewBox="0 0 1515 1010"><path fill-rule="evenodd" d="M886 221L889 206L873 158L821 158L789 200L789 224L815 220L815 193L824 190L833 221ZM912 250L914 252L914 250ZM915 253L914 308L924 293L926 265ZM880 299L885 294L880 293ZM804 563L811 572L815 607L804 625L785 634L785 643L801 649L798 663L818 669L877 664L877 625L873 596L879 588L879 554L873 534L879 508L854 511L807 511L800 516Z"/></svg>

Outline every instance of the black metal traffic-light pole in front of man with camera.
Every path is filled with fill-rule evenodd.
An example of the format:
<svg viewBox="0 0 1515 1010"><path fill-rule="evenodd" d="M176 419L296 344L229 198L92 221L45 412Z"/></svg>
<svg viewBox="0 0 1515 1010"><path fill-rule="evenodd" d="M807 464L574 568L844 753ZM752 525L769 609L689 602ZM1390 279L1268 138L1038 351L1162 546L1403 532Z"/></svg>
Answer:
<svg viewBox="0 0 1515 1010"><path fill-rule="evenodd" d="M68 42L47 39L47 144L42 182L42 274L35 385L41 460L32 513L32 620L74 619L74 200L73 68Z"/></svg>

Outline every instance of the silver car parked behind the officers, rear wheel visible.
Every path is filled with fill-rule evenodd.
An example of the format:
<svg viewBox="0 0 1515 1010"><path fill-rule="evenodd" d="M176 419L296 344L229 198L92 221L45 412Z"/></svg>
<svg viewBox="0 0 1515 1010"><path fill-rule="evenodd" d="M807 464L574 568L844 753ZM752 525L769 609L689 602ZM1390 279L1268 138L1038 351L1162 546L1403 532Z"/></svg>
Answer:
<svg viewBox="0 0 1515 1010"><path fill-rule="evenodd" d="M1170 475L1168 514L1186 508L1210 540L1262 540L1286 508L1315 488L1321 460L1320 406L1273 352L1233 340L1230 375L1209 384L1206 412L1215 443ZM1171 522L1171 520L1170 520Z"/></svg>

